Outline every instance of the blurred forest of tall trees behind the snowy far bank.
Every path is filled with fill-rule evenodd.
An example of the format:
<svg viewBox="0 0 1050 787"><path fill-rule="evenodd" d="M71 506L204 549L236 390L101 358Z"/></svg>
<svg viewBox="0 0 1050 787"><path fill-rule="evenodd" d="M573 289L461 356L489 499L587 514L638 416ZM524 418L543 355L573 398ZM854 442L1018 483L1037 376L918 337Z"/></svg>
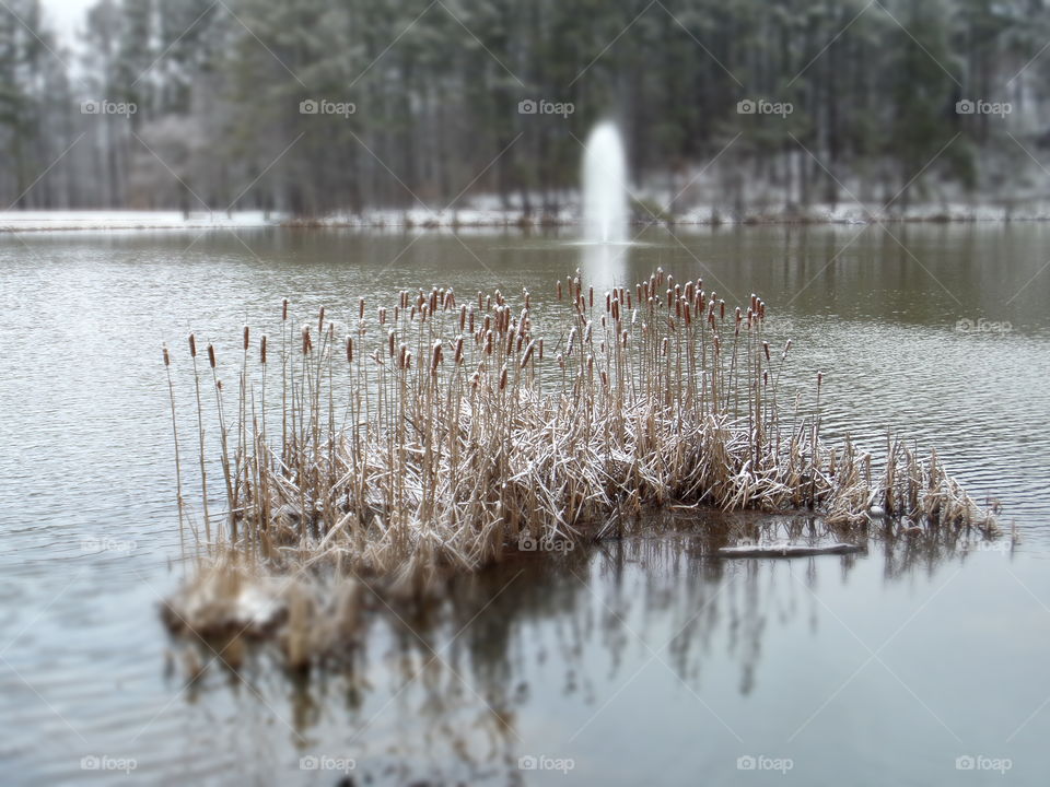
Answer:
<svg viewBox="0 0 1050 787"><path fill-rule="evenodd" d="M666 210L1045 198L1048 46L1043 0L4 0L0 200L541 213L603 118Z"/></svg>

